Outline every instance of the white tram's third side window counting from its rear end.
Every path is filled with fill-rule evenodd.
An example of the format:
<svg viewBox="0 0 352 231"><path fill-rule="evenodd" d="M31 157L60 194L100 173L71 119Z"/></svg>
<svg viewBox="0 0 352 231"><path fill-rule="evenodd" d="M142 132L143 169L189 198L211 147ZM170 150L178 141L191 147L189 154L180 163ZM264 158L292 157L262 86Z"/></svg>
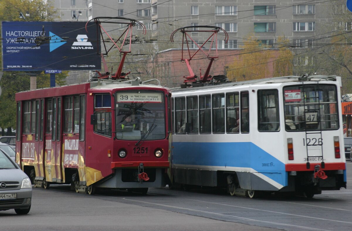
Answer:
<svg viewBox="0 0 352 231"><path fill-rule="evenodd" d="M226 94L226 132L239 133L240 101L238 92Z"/></svg>

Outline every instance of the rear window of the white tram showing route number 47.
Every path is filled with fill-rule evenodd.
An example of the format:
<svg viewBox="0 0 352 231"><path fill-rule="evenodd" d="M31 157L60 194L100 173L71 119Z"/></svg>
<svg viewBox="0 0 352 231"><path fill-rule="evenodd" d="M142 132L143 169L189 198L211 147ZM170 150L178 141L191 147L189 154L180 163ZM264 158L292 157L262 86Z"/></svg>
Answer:
<svg viewBox="0 0 352 231"><path fill-rule="evenodd" d="M339 128L335 85L295 85L283 88L285 130Z"/></svg>

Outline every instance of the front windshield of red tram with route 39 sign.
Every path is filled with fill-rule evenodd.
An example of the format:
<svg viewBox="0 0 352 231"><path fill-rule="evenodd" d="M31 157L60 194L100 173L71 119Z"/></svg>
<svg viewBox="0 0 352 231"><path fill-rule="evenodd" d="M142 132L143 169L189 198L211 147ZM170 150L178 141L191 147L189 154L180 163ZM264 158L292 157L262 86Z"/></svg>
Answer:
<svg viewBox="0 0 352 231"><path fill-rule="evenodd" d="M117 139L157 140L166 137L163 92L116 92L115 104Z"/></svg>

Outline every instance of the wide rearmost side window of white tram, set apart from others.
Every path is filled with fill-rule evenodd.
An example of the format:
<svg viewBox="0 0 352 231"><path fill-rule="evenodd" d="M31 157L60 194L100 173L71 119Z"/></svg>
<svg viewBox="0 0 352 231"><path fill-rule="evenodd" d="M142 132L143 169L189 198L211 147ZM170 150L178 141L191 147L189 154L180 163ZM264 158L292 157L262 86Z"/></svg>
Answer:
<svg viewBox="0 0 352 231"><path fill-rule="evenodd" d="M259 132L280 130L277 90L258 90L258 130Z"/></svg>

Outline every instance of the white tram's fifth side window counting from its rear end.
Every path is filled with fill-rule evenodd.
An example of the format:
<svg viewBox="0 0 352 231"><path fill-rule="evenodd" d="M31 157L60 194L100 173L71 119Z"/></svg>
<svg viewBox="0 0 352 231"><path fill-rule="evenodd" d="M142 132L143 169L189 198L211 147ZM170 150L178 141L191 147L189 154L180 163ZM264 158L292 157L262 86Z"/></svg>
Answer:
<svg viewBox="0 0 352 231"><path fill-rule="evenodd" d="M212 104L210 95L199 96L199 127L200 133L212 132Z"/></svg>

